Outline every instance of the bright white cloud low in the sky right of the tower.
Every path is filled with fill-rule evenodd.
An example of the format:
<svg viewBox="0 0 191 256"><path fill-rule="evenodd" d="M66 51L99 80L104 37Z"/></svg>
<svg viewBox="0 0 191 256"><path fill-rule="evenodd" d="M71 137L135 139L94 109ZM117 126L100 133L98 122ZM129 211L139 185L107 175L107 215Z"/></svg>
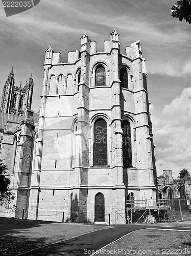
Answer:
<svg viewBox="0 0 191 256"><path fill-rule="evenodd" d="M161 116L154 117L154 141L157 165L168 163L191 167L191 87L165 105ZM171 168L171 166L168 166ZM191 171L191 169L190 169Z"/></svg>

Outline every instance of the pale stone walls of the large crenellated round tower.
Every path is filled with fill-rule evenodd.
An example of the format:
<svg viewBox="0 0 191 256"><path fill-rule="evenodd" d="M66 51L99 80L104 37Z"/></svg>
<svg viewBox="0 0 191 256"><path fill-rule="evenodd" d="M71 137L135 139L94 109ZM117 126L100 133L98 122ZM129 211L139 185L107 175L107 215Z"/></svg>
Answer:
<svg viewBox="0 0 191 256"><path fill-rule="evenodd" d="M127 88L121 86L122 69L127 71ZM96 42L85 33L80 52L69 52L67 63L51 47L45 51L28 218L60 221L64 211L64 221L108 222L110 214L111 223L124 223L129 193L135 200L156 199L146 77L140 42L123 55L115 30L104 41L104 52L97 52ZM99 165L94 151L100 119L106 123L107 159ZM130 123L131 134L132 163L126 167L123 120ZM100 219L98 195L103 202Z"/></svg>

